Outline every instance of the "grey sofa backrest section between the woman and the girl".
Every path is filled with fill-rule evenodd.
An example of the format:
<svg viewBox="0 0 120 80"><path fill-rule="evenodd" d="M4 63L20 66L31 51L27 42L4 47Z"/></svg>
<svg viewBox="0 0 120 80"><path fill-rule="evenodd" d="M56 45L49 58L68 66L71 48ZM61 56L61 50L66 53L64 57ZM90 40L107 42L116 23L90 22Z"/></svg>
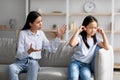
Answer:
<svg viewBox="0 0 120 80"><path fill-rule="evenodd" d="M56 53L42 53L40 66L44 67L67 67L73 54L73 48L67 42L61 42Z"/></svg>

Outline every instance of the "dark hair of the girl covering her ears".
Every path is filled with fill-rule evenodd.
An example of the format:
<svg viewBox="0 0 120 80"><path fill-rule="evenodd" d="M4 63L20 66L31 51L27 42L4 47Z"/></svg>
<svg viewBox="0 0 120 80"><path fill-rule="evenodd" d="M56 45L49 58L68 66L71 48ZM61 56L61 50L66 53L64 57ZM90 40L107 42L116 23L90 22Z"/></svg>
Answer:
<svg viewBox="0 0 120 80"><path fill-rule="evenodd" d="M85 19L83 20L83 23L82 23L82 26L87 26L89 23L95 21L96 23L98 23L97 19L91 15L85 17ZM87 46L87 48L89 48L89 44L87 43L87 32L86 31L82 31L80 33L80 35L82 36L83 38L83 41L85 43L85 45ZM96 34L92 36L93 40L94 40L94 44L96 44L97 42L97 39L96 39Z"/></svg>

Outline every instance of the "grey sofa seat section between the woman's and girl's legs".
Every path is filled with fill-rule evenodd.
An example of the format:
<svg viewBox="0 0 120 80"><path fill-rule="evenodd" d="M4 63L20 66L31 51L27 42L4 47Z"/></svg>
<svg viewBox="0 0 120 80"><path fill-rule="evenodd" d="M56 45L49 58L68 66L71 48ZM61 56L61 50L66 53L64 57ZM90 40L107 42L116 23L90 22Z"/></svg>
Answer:
<svg viewBox="0 0 120 80"><path fill-rule="evenodd" d="M38 80L68 80L65 67L41 67Z"/></svg>

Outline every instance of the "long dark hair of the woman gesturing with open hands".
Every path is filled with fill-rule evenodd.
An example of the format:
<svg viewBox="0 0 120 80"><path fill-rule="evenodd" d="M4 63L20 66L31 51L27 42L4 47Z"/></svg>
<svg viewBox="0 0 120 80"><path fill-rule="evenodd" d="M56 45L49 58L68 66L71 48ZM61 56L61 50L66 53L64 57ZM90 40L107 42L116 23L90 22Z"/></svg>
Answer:
<svg viewBox="0 0 120 80"><path fill-rule="evenodd" d="M29 23L33 23L36 20L36 18L38 18L39 16L41 16L41 14L39 14L37 11L31 11L27 16L26 23L22 28L22 30L30 29Z"/></svg>

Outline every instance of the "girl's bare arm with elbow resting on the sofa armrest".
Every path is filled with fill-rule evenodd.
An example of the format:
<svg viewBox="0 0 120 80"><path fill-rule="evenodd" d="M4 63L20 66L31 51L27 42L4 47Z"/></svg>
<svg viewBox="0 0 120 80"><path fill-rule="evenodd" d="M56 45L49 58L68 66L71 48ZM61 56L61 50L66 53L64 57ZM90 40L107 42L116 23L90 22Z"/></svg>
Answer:
<svg viewBox="0 0 120 80"><path fill-rule="evenodd" d="M98 45L100 47L105 48L106 50L109 50L109 43L108 43L108 39L106 37L106 34L105 34L104 30L102 28L98 27L97 31L98 31L98 33L101 34L101 36L103 38L103 42L100 42Z"/></svg>

